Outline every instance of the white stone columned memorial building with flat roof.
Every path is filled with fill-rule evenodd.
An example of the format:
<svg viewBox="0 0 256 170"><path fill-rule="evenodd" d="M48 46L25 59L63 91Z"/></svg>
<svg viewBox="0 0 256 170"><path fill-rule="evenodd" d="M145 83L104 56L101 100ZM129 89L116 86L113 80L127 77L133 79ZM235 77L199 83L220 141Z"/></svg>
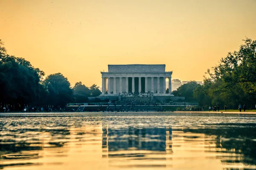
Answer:
<svg viewBox="0 0 256 170"><path fill-rule="evenodd" d="M165 71L165 67L165 64L108 65L108 72L101 72L102 96L131 92L171 95L166 94L166 88L171 93L172 71ZM169 79L169 87L166 87L166 78Z"/></svg>

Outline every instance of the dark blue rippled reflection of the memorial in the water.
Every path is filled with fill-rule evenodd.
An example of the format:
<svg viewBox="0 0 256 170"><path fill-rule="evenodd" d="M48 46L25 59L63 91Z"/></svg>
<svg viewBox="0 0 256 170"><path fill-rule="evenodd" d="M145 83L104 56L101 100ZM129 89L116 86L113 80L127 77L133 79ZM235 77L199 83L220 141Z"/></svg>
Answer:
<svg viewBox="0 0 256 170"><path fill-rule="evenodd" d="M171 127L127 127L127 128L102 128L102 148L104 156L132 156L131 152L116 151L157 151L172 153L172 128ZM163 153L162 153L163 154ZM137 155L137 152L134 154ZM143 154L142 154L143 155ZM142 156L140 155L140 156Z"/></svg>

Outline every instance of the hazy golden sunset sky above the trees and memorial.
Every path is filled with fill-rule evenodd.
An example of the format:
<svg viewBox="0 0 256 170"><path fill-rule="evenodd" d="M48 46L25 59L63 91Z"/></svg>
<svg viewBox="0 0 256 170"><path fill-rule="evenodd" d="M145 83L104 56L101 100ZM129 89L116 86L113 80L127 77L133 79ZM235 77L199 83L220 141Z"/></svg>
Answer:
<svg viewBox="0 0 256 170"><path fill-rule="evenodd" d="M256 40L256 0L0 0L8 54L72 85L101 86L108 64L202 80L245 37Z"/></svg>

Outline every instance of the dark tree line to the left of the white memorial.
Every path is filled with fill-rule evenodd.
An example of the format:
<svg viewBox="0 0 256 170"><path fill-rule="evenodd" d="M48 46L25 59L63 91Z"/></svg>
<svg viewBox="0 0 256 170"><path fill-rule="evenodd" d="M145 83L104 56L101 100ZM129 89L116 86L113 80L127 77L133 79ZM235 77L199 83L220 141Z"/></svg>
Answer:
<svg viewBox="0 0 256 170"><path fill-rule="evenodd" d="M70 82L61 73L45 77L44 71L34 68L24 58L7 54L0 40L0 106L8 105L15 110L24 105L52 105L64 107L70 102L86 102L89 96L100 95L99 86L90 87Z"/></svg>

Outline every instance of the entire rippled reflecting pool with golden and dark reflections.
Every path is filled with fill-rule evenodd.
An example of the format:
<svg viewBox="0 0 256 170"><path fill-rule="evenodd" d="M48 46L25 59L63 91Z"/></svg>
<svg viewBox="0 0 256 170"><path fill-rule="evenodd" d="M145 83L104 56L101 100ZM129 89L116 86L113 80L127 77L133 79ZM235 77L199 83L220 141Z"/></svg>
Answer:
<svg viewBox="0 0 256 170"><path fill-rule="evenodd" d="M256 115L0 114L0 169L256 169Z"/></svg>

